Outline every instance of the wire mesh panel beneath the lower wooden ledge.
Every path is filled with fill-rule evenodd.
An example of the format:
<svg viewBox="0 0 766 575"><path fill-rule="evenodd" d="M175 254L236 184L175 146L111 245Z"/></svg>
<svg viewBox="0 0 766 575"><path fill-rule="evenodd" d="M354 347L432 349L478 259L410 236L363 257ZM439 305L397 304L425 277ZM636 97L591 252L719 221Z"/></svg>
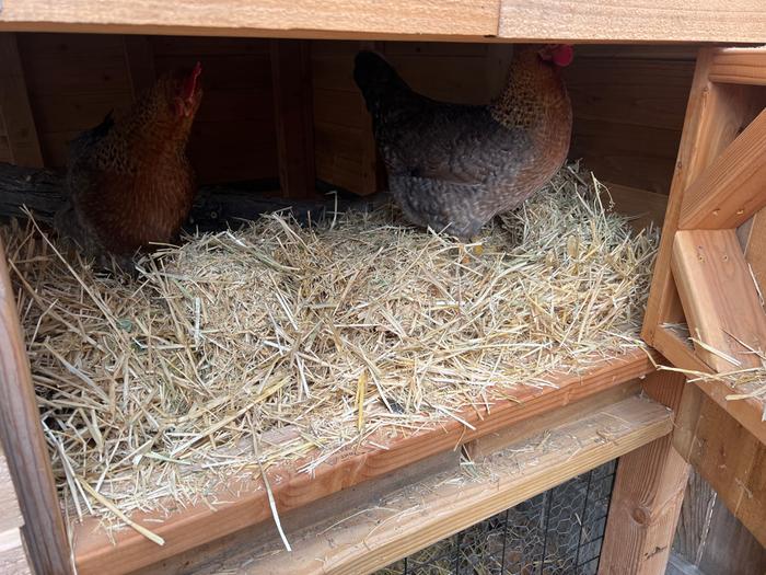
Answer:
<svg viewBox="0 0 766 575"><path fill-rule="evenodd" d="M595 575L616 460L375 575Z"/></svg>

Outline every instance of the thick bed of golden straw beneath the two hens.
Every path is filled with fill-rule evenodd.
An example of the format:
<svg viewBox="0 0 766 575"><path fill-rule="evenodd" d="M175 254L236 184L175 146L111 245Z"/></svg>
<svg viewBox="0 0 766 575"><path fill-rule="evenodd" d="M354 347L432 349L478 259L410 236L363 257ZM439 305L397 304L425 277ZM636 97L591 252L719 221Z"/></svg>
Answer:
<svg viewBox="0 0 766 575"><path fill-rule="evenodd" d="M311 472L382 427L459 419L492 386L549 386L640 346L657 233L597 187L565 168L480 245L391 209L312 228L274 215L144 258L137 279L5 228L69 508L161 509L309 452Z"/></svg>

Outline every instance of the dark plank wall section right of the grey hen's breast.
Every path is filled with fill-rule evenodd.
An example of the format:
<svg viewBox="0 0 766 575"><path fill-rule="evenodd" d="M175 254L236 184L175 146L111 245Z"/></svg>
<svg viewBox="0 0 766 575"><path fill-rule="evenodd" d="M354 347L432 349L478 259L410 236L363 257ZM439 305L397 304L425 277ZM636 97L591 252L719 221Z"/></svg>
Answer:
<svg viewBox="0 0 766 575"><path fill-rule="evenodd" d="M570 158L605 182L668 194L697 47L581 46L566 70Z"/></svg>

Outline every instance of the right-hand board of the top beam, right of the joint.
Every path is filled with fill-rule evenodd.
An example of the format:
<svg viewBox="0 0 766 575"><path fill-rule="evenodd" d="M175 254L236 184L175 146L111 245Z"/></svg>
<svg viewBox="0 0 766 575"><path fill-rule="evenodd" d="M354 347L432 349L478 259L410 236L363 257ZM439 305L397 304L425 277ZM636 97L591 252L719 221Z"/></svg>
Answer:
<svg viewBox="0 0 766 575"><path fill-rule="evenodd" d="M613 42L763 42L761 0L502 0L506 38Z"/></svg>

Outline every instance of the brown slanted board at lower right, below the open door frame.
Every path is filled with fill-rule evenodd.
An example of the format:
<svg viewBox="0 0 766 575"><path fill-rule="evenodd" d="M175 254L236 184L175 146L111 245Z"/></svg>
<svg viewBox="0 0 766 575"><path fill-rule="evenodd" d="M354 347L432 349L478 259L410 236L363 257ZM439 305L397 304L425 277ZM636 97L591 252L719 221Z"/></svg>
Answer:
<svg viewBox="0 0 766 575"><path fill-rule="evenodd" d="M766 444L696 387L688 388L681 412L675 448L766 545Z"/></svg>

